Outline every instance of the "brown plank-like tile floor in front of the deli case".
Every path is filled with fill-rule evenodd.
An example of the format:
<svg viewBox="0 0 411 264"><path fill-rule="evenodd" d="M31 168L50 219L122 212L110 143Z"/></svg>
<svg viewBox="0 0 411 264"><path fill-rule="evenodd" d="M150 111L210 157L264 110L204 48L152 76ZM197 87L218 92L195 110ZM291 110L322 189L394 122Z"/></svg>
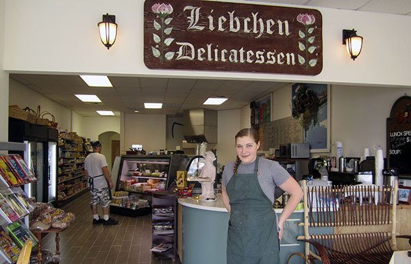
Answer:
<svg viewBox="0 0 411 264"><path fill-rule="evenodd" d="M92 225L89 207L90 195L83 194L65 204L62 209L75 213L75 221L60 234L62 264L80 263L129 263L129 264L181 264L177 257L156 259L151 248L151 215L127 217L111 215L119 225ZM101 209L99 215L102 216ZM42 241L43 249L55 252L55 235L47 235Z"/></svg>

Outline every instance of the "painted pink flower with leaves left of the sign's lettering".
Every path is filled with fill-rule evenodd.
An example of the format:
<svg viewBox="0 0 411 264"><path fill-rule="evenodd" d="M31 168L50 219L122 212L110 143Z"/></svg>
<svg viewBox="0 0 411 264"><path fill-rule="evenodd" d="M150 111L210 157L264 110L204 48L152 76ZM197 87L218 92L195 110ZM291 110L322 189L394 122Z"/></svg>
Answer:
<svg viewBox="0 0 411 264"><path fill-rule="evenodd" d="M160 31L160 34L153 33L153 40L155 42L155 47L151 47L151 51L153 51L153 56L160 58L162 62L164 59L171 60L174 57L174 52L169 51L164 53L164 48L169 47L171 43L174 41L174 38L167 37L173 31L173 27L168 27L171 23L173 18L169 17L169 14L173 13L173 6L166 3L155 3L151 6L151 11L154 14L158 14L158 18L160 18L160 23L153 20L153 27L156 31Z"/></svg>

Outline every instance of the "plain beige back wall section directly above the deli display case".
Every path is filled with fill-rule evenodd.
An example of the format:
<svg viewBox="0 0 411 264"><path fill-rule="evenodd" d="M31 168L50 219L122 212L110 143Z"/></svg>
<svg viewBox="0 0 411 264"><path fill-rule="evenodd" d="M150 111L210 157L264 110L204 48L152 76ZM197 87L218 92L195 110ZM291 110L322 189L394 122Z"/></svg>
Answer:
<svg viewBox="0 0 411 264"><path fill-rule="evenodd" d="M166 116L124 114L124 138L121 150L128 150L132 144L142 144L149 151L158 151L166 146Z"/></svg>

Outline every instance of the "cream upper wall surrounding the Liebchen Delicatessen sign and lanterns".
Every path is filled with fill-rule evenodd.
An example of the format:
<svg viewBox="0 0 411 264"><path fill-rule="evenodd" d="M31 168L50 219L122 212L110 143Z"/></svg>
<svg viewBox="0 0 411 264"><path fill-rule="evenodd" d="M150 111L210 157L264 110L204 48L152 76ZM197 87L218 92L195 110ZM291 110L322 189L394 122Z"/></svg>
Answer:
<svg viewBox="0 0 411 264"><path fill-rule="evenodd" d="M408 70L411 34L406 34L410 32L411 16L316 8L323 15L323 70L316 76L304 76L151 70L145 66L143 57L143 8L144 1L135 0L122 0L121 5L108 0L72 0L70 4L66 1L5 0L4 68L15 72L111 73L355 85L406 86L411 83ZM115 14L119 24L119 36L109 51L101 44L96 27L106 12ZM39 25L41 30L38 30ZM341 43L342 30L352 28L364 37L364 48L355 62L349 59ZM382 38L382 32L390 32L390 37ZM75 40L73 36L76 36ZM384 52L393 46L395 49Z"/></svg>

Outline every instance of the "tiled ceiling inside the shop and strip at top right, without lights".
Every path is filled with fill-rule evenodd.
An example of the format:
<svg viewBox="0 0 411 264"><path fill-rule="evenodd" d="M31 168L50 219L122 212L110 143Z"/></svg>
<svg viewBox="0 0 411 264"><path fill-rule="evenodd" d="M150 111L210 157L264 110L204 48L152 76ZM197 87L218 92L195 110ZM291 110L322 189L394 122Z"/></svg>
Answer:
<svg viewBox="0 0 411 264"><path fill-rule="evenodd" d="M411 0L260 0L250 2L284 3L310 7L360 10L411 15ZM206 107L216 110L240 109L249 102L284 87L287 83L227 81L214 79L165 79L159 77L110 77L113 88L90 88L77 75L10 74L10 78L72 109L82 116L98 116L96 110L140 114L182 114L184 109ZM74 94L97 94L102 103L89 105ZM210 96L228 98L223 105L203 106ZM143 103L163 103L162 109L144 109Z"/></svg>

